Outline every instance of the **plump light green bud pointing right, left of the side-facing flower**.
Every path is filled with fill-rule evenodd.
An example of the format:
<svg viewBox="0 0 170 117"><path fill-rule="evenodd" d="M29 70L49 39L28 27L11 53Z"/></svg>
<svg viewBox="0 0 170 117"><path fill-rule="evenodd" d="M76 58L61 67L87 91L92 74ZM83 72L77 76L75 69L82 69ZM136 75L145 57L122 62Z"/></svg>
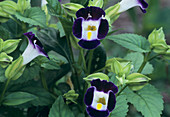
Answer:
<svg viewBox="0 0 170 117"><path fill-rule="evenodd" d="M17 48L20 40L21 40L21 39L18 39L18 40L12 40L12 39L11 39L11 40L5 41L5 42L3 43L2 51L5 52L5 53L7 53L7 54L13 52L13 51Z"/></svg>

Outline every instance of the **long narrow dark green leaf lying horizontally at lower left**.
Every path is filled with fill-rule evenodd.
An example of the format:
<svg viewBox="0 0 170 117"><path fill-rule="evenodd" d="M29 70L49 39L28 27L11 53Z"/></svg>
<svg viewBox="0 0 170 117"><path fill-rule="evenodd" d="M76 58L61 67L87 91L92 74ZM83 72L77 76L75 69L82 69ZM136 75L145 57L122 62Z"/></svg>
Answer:
<svg viewBox="0 0 170 117"><path fill-rule="evenodd" d="M10 93L4 98L3 104L8 106L14 106L29 102L37 97L27 92L14 92Z"/></svg>

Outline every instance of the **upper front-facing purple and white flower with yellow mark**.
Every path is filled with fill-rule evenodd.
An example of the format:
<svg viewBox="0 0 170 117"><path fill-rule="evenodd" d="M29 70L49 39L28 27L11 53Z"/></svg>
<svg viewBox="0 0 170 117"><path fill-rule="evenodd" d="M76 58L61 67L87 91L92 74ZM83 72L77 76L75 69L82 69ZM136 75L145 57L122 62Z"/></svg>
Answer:
<svg viewBox="0 0 170 117"><path fill-rule="evenodd" d="M109 24L105 12L99 7L81 8L76 12L77 19L73 24L73 34L80 39L78 44L85 49L94 49L100 39L108 33Z"/></svg>

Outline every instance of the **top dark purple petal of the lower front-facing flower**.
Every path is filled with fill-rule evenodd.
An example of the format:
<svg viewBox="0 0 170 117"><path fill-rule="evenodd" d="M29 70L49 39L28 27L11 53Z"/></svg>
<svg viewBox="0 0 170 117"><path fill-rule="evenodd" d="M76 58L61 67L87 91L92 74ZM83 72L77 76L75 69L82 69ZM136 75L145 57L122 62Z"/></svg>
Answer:
<svg viewBox="0 0 170 117"><path fill-rule="evenodd" d="M107 82L106 80L95 79L91 81L91 86L96 87L98 91L103 91L107 93L109 90L113 91L114 93L118 92L118 88L112 82Z"/></svg>

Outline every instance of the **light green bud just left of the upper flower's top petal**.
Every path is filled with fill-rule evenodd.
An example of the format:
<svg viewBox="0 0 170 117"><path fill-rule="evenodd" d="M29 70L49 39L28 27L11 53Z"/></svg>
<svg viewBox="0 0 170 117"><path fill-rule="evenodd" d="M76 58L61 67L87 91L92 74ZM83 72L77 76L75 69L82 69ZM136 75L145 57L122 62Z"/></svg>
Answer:
<svg viewBox="0 0 170 117"><path fill-rule="evenodd" d="M66 4L62 4L62 6L68 15L75 17L75 18L76 18L76 12L79 9L84 8L82 5L75 4L75 3L66 3Z"/></svg>

